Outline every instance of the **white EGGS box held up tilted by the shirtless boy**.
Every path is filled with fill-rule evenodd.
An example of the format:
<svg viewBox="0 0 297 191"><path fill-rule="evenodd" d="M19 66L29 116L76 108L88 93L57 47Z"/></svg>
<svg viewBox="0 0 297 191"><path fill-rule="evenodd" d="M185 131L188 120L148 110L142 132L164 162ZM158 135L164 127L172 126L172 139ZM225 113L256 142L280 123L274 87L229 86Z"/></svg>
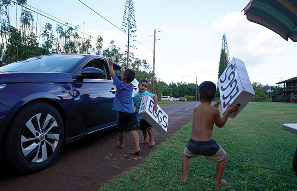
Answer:
<svg viewBox="0 0 297 191"><path fill-rule="evenodd" d="M239 109L231 113L229 117L234 118L255 96L255 92L244 62L233 58L223 74L218 79L222 113L225 113L228 104L239 105Z"/></svg>

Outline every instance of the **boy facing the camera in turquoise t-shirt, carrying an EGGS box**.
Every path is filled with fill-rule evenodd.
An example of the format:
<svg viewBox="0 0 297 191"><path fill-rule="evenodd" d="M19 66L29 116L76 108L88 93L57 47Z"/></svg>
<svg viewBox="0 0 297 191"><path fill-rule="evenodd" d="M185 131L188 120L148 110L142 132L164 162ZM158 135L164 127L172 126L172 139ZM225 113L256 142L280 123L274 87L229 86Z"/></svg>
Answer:
<svg viewBox="0 0 297 191"><path fill-rule="evenodd" d="M147 81L146 79L142 79L139 81L138 84L138 93L136 93L134 95L134 105L137 109L137 119L140 120L139 124L140 124L140 130L143 133L143 141L141 141L139 144L143 144L143 143L149 143L148 140L148 134L149 133L149 138L150 138L150 143L149 143L149 147L152 147L155 145L155 140L154 140L154 134L152 131L152 125L150 125L145 119L143 119L142 116L139 115L139 107L140 107L140 103L141 103L141 99L143 96L149 95L154 99L154 105L153 108L155 110L155 112L157 112L157 96L153 93L149 93L148 91L146 91L149 87L149 81Z"/></svg>

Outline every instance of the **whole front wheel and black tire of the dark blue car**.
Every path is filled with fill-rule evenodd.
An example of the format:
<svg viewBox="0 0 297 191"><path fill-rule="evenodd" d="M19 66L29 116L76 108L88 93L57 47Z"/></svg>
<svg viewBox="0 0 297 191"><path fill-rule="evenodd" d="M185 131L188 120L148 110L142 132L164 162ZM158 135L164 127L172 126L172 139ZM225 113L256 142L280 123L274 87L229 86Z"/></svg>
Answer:
<svg viewBox="0 0 297 191"><path fill-rule="evenodd" d="M33 101L13 116L4 135L7 164L16 172L32 173L50 166L64 138L59 112L51 104Z"/></svg>

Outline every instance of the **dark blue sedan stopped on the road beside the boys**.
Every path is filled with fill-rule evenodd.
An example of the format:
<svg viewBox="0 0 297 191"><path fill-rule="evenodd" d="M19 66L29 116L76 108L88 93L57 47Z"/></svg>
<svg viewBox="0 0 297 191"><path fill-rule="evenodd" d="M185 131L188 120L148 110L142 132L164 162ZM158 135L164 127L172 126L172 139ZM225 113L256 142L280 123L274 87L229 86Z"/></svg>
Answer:
<svg viewBox="0 0 297 191"><path fill-rule="evenodd" d="M120 77L122 66L113 67ZM115 128L115 93L108 61L97 55L43 55L1 67L1 160L36 172L52 164L64 143Z"/></svg>

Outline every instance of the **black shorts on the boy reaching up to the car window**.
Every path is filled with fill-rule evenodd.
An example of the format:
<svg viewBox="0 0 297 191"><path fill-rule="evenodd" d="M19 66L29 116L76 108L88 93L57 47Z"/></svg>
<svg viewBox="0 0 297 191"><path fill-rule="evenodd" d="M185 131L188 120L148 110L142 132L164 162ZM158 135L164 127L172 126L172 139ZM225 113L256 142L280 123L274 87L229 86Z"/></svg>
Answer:
<svg viewBox="0 0 297 191"><path fill-rule="evenodd" d="M116 112L119 132L133 131L138 129L136 113L126 113L122 111Z"/></svg>

